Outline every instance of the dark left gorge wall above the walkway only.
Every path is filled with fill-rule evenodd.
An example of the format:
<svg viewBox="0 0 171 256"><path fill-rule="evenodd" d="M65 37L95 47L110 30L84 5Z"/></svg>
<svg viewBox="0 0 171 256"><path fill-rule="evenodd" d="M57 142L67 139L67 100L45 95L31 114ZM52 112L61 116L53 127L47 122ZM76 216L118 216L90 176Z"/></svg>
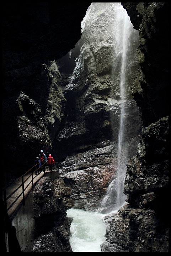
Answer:
<svg viewBox="0 0 171 256"><path fill-rule="evenodd" d="M28 171L40 150L50 150L65 104L54 59L80 39L90 4L4 4L3 150L13 163L4 184Z"/></svg>

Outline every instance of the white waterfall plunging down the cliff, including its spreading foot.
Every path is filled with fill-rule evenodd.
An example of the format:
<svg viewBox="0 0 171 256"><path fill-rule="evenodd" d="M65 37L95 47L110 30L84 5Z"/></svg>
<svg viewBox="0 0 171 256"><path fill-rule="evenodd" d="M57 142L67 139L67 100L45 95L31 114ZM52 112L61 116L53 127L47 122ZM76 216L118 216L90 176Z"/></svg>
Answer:
<svg viewBox="0 0 171 256"><path fill-rule="evenodd" d="M118 114L119 129L118 129L118 153L117 165L114 168L117 170L116 177L113 179L107 189L105 198L101 202L100 212L109 213L117 211L126 202L126 195L123 193L124 180L126 176L126 164L128 162L128 143L127 137L129 133L129 111L131 104L129 99L131 64L135 56L136 42L139 38L139 33L133 28L130 22L127 11L122 6L116 9L116 22L114 24L114 63L113 75L119 73L120 95L119 106L120 113ZM111 120L112 124L112 120ZM116 125L115 123L113 126ZM113 129L112 129L113 130Z"/></svg>

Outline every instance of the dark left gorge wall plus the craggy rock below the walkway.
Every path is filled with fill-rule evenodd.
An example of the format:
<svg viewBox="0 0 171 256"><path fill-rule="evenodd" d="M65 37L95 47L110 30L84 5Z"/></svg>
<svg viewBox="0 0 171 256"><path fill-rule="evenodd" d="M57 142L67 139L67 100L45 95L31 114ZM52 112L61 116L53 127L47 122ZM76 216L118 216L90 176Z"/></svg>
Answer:
<svg viewBox="0 0 171 256"><path fill-rule="evenodd" d="M52 150L66 101L54 59L64 56L80 39L81 21L90 4L4 3L4 187L34 166L40 150ZM44 178L41 182L37 185L39 191L34 190L38 224L33 251L71 251L71 219L66 217L66 210L73 206L70 193L63 180L53 184ZM45 218L49 220L48 226Z"/></svg>

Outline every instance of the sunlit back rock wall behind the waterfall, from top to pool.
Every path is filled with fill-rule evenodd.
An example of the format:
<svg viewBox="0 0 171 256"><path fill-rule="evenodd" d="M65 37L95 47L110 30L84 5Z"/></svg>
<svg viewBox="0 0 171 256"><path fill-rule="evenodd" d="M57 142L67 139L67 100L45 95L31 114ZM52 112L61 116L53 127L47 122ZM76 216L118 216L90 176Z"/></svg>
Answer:
<svg viewBox="0 0 171 256"><path fill-rule="evenodd" d="M74 207L97 210L116 177L119 113L119 60L114 50L116 8L121 3L92 3L82 21L82 36L74 49L59 59L65 117L52 144L59 172L73 192ZM129 158L135 154L141 119L131 86L137 77L138 38L132 40L127 81L129 126L125 139ZM117 72L113 72L113 66ZM128 72L128 71L127 71Z"/></svg>

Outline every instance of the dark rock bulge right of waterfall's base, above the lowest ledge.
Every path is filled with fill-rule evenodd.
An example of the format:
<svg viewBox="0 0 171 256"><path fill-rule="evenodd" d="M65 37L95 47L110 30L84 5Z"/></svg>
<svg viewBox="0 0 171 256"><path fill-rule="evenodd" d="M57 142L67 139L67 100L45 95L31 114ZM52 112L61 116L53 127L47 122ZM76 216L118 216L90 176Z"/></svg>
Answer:
<svg viewBox="0 0 171 256"><path fill-rule="evenodd" d="M129 160L125 178L127 202L139 208L153 208L157 213L166 204L168 193L168 126L168 117L163 117L143 130L137 156Z"/></svg>

